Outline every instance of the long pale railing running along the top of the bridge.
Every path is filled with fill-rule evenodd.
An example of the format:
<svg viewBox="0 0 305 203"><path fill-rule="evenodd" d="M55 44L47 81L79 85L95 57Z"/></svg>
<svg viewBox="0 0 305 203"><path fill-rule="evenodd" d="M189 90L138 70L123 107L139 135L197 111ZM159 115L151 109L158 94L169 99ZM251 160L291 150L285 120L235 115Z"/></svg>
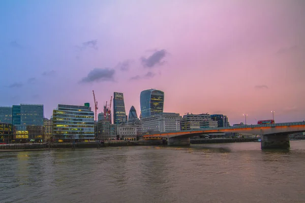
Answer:
<svg viewBox="0 0 305 203"><path fill-rule="evenodd" d="M289 122L289 123L270 123L270 124L255 124L255 125L236 125L228 127L205 127L192 130L180 130L180 131L169 131L161 133L150 133L150 134L163 134L163 133L173 133L173 132L196 132L196 131L208 131L208 130L224 130L224 129L240 129L240 128L257 128L257 127L276 127L276 126L291 126L291 125L305 125L305 121L302 122ZM144 134L149 135L149 134Z"/></svg>

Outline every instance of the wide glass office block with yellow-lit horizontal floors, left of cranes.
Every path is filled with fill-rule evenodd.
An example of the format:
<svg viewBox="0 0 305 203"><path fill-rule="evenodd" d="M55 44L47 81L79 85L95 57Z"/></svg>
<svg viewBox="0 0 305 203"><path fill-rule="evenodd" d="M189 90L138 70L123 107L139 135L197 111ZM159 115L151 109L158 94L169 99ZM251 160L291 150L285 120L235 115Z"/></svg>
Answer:
<svg viewBox="0 0 305 203"><path fill-rule="evenodd" d="M53 139L57 142L94 140L94 124L90 107L58 105L53 110Z"/></svg>

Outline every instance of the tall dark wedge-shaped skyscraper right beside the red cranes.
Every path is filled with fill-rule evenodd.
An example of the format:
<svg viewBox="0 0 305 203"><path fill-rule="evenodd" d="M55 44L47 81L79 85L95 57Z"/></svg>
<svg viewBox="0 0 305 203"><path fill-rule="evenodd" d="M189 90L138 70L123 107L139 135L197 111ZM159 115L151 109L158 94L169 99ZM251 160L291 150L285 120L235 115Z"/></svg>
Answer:
<svg viewBox="0 0 305 203"><path fill-rule="evenodd" d="M123 93L113 93L113 123L122 124L127 121Z"/></svg>

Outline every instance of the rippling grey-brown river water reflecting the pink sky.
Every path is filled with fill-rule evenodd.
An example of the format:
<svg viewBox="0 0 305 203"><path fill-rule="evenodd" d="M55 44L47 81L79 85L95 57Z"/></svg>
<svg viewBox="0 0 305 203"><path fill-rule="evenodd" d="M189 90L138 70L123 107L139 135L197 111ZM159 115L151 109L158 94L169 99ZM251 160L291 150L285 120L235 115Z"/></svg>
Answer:
<svg viewBox="0 0 305 203"><path fill-rule="evenodd" d="M305 202L305 141L0 153L0 202Z"/></svg>

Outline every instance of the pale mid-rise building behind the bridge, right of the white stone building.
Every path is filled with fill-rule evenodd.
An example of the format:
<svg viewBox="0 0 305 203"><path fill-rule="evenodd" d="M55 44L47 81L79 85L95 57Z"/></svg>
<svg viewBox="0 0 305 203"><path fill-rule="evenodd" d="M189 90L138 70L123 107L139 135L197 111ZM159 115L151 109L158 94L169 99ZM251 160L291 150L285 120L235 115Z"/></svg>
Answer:
<svg viewBox="0 0 305 203"><path fill-rule="evenodd" d="M186 114L181 120L181 130L193 130L217 126L218 122L213 121L209 114Z"/></svg>

